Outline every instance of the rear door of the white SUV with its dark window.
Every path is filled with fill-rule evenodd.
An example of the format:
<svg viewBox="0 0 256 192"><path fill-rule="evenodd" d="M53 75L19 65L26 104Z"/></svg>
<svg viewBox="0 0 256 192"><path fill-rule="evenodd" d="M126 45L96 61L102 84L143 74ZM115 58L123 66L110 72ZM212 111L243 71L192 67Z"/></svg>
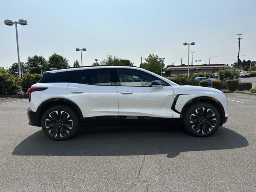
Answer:
<svg viewBox="0 0 256 192"><path fill-rule="evenodd" d="M110 68L87 69L68 85L67 97L84 117L118 115L118 96Z"/></svg>

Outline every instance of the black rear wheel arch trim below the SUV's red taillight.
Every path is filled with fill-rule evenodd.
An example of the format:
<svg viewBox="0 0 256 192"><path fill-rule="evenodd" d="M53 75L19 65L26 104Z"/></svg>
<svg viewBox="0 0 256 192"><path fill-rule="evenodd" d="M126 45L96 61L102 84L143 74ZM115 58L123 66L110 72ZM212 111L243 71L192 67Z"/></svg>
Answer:
<svg viewBox="0 0 256 192"><path fill-rule="evenodd" d="M78 116L79 116L79 119L81 122L81 120L83 118L82 112L81 112L80 108L74 102L72 102L68 99L65 99L65 98L51 98L51 99L48 99L48 100L42 102L42 104L40 104L40 106L38 107L38 109L36 111L38 113L38 122L40 125L41 125L41 119L42 119L44 112L48 108L50 108L52 106L56 106L56 105L66 105L66 106L73 108L78 113Z"/></svg>

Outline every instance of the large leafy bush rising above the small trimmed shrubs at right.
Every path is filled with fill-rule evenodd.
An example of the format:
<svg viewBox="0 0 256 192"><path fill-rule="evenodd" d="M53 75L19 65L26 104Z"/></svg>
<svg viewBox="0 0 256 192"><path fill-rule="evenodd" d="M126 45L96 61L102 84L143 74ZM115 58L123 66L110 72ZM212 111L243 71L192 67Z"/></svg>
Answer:
<svg viewBox="0 0 256 192"><path fill-rule="evenodd" d="M237 69L220 69L218 70L219 79L222 81L222 88L226 88L226 80L238 79L239 72Z"/></svg>

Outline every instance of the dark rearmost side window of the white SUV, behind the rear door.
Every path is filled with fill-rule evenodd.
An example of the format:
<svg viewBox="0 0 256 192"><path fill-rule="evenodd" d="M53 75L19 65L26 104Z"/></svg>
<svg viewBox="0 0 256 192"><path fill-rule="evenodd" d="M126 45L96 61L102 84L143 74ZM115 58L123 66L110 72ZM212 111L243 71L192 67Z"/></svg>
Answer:
<svg viewBox="0 0 256 192"><path fill-rule="evenodd" d="M44 72L38 83L70 83L72 80L76 79L81 72L82 70L56 73Z"/></svg>

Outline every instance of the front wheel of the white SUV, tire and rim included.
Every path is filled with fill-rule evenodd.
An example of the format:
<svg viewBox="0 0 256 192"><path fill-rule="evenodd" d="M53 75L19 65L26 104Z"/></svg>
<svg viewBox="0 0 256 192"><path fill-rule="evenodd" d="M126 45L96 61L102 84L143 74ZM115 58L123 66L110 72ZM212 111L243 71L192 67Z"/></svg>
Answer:
<svg viewBox="0 0 256 192"><path fill-rule="evenodd" d="M220 113L213 105L205 102L191 104L184 113L183 126L193 136L210 136L220 126Z"/></svg>

